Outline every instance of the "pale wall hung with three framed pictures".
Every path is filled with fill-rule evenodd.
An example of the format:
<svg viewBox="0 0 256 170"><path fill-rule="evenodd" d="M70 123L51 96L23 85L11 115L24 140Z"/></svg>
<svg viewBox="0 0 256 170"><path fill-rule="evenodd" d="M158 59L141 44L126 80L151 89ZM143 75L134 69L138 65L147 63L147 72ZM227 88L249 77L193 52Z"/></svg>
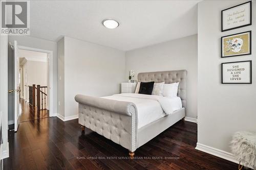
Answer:
<svg viewBox="0 0 256 170"><path fill-rule="evenodd" d="M245 1L198 5L198 143L230 152L231 135L256 131L256 2L252 26L221 32L221 10ZM252 30L252 55L221 58L221 37ZM252 60L252 84L221 84L221 63Z"/></svg>

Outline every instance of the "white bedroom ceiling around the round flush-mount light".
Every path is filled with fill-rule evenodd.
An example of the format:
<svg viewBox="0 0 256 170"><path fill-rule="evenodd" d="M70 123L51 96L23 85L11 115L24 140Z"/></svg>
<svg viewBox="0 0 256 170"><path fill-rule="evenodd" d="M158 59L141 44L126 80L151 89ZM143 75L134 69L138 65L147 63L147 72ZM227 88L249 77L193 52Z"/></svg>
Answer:
<svg viewBox="0 0 256 170"><path fill-rule="evenodd" d="M197 34L199 1L30 1L31 36L68 36L122 51ZM120 25L106 29L102 20Z"/></svg>

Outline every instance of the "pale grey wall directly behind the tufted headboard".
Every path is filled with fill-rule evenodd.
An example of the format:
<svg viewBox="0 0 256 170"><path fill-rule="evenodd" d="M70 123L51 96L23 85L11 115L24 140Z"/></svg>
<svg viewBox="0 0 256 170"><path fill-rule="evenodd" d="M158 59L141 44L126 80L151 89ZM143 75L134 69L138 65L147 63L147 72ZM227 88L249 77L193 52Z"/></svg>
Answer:
<svg viewBox="0 0 256 170"><path fill-rule="evenodd" d="M125 78L129 71L187 70L186 116L197 118L197 35L139 48L125 54Z"/></svg>

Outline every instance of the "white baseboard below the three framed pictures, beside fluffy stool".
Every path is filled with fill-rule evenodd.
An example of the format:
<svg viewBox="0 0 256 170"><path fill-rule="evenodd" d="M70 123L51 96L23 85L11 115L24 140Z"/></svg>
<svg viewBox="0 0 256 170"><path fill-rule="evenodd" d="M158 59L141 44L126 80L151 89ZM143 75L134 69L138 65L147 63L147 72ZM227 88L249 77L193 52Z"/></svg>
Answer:
<svg viewBox="0 0 256 170"><path fill-rule="evenodd" d="M226 152L226 151L216 149L216 148L209 147L207 145L204 145L204 144L201 144L198 142L197 142L196 150L203 151L203 152L206 152L206 153L214 155L214 156L218 156L220 158L229 160L234 163L239 163L236 159L234 159L233 154Z"/></svg>

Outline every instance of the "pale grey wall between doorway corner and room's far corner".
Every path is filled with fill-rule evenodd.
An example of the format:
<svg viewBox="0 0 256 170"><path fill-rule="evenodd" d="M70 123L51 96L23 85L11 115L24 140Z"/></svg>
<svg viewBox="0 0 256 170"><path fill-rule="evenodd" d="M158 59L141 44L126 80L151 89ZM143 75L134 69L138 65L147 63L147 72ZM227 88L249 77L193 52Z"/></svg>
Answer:
<svg viewBox="0 0 256 170"><path fill-rule="evenodd" d="M61 44L65 46L64 59L59 57L63 55ZM124 81L124 52L69 37L64 38L64 43L58 43L58 49L65 72L65 78L58 80L59 83L64 81L64 86L60 86L65 87L65 113L59 114L65 117L77 115L76 94L106 96L120 93L120 83Z"/></svg>

